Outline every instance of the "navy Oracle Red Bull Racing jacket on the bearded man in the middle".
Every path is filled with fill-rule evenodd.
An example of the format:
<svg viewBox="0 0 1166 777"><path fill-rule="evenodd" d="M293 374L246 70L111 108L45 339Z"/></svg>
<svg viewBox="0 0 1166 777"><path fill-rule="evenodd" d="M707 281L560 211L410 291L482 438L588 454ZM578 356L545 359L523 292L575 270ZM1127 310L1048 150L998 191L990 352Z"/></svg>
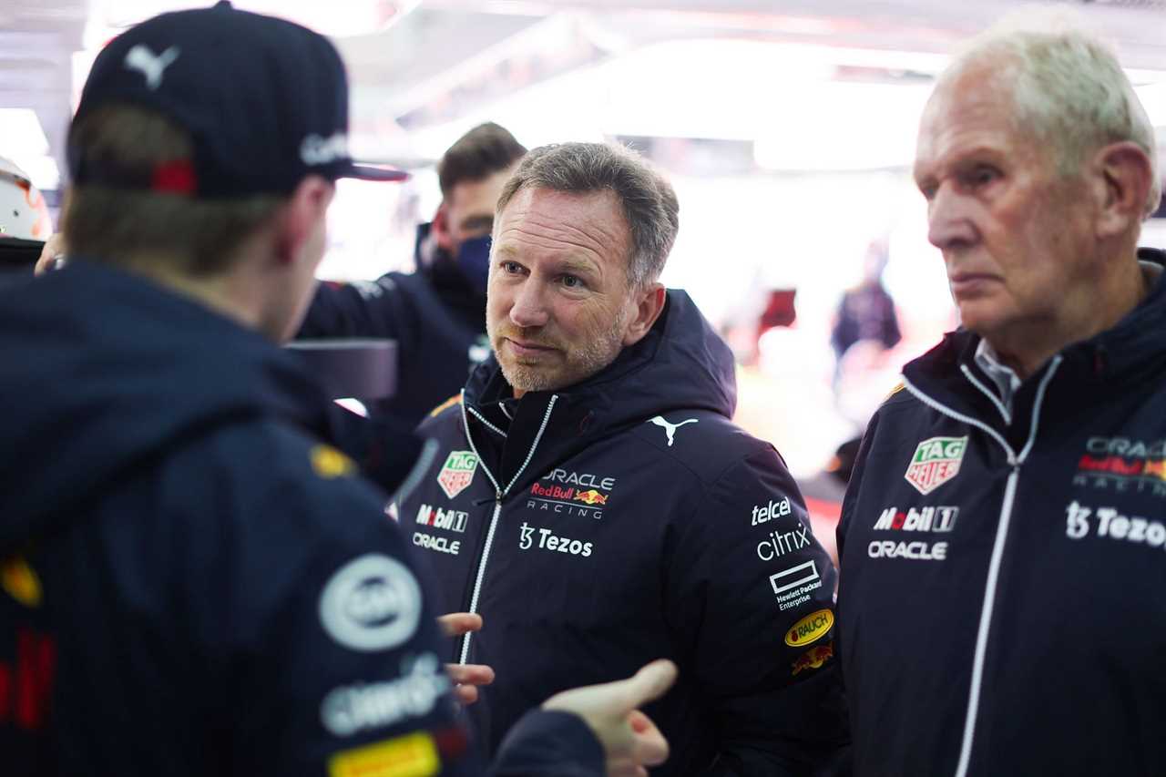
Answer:
<svg viewBox="0 0 1166 777"><path fill-rule="evenodd" d="M808 775L845 741L835 572L735 402L728 346L673 290L591 378L514 401L491 359L421 426L440 453L401 527L440 609L485 620L449 658L497 672L471 708L491 747L547 693L658 657L680 679L647 708L672 744L654 774Z"/></svg>

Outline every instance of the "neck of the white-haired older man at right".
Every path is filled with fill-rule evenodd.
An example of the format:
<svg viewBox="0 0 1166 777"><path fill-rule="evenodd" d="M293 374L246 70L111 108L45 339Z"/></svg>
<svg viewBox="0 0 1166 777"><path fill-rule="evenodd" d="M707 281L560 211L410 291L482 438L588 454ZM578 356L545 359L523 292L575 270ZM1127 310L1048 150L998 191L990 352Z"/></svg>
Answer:
<svg viewBox="0 0 1166 777"><path fill-rule="evenodd" d="M1131 254L1133 251L1131 250ZM1111 329L1150 293L1151 281L1136 260L1122 262L1119 273L1103 276L1088 289L1087 299L1066 299L1058 313L1063 317L1026 322L1009 331L983 332L1000 363L1021 380L1028 379L1066 345Z"/></svg>

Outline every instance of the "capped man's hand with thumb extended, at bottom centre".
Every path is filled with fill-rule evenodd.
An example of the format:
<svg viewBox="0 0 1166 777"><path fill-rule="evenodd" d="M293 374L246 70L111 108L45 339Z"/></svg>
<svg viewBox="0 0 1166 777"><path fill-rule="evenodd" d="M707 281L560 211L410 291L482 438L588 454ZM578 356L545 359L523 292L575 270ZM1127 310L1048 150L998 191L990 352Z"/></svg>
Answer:
<svg viewBox="0 0 1166 777"><path fill-rule="evenodd" d="M591 728L607 757L609 777L647 777L646 766L668 757L668 741L638 707L659 699L676 681L667 659L647 664L626 680L556 693L543 709L575 713Z"/></svg>

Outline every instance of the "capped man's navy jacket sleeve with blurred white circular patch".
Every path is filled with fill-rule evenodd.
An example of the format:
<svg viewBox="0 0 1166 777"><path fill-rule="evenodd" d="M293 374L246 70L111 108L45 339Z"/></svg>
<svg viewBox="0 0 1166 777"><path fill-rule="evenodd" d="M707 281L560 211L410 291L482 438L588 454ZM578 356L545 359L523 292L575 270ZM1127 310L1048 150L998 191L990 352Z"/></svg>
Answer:
<svg viewBox="0 0 1166 777"><path fill-rule="evenodd" d="M230 742L224 771L486 774L441 659L431 588L384 495L337 449L297 450L302 466L283 446L258 464L266 476L252 466L220 489L246 510L218 530L204 516L211 536L197 541L216 551L187 601L208 685L223 690L209 719ZM602 775L595 737L566 718L536 714L492 774Z"/></svg>

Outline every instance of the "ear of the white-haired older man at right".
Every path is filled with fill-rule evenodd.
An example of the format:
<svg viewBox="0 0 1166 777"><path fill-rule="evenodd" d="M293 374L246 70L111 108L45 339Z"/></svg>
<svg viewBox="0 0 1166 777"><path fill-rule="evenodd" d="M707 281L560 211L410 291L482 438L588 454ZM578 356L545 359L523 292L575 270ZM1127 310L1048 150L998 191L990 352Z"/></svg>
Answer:
<svg viewBox="0 0 1166 777"><path fill-rule="evenodd" d="M1146 216L1153 169L1146 152L1135 142L1110 144L1094 156L1094 190L1098 200L1097 237L1124 235Z"/></svg>

